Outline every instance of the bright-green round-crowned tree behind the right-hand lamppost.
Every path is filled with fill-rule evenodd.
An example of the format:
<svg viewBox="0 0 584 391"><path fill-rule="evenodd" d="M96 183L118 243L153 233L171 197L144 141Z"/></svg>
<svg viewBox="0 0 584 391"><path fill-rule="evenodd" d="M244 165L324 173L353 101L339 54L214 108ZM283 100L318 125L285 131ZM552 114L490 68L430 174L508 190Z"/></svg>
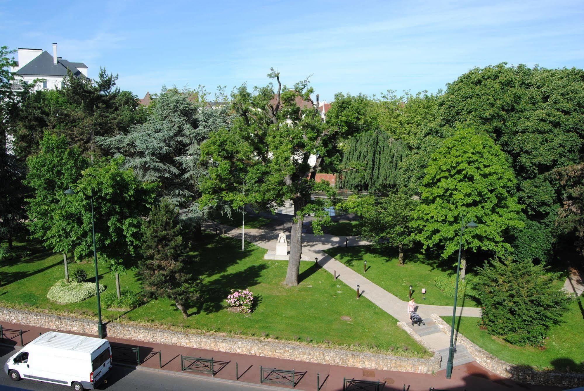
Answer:
<svg viewBox="0 0 584 391"><path fill-rule="evenodd" d="M425 248L440 245L443 257L458 250L460 221L479 226L465 230L463 249L509 254L505 236L523 226L515 196L516 179L505 154L491 137L472 128L457 129L430 158L416 212L418 238ZM462 258L461 278L466 267Z"/></svg>

